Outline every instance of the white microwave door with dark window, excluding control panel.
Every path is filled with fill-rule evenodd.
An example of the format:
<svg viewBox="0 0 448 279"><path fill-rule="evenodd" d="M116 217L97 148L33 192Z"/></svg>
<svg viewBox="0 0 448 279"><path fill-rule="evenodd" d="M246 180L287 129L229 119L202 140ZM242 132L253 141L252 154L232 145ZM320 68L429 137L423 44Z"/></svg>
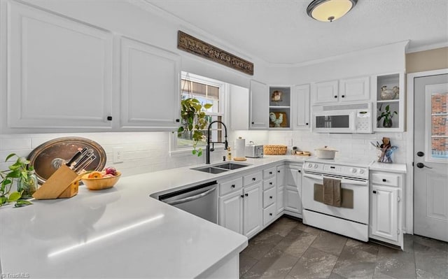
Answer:
<svg viewBox="0 0 448 279"><path fill-rule="evenodd" d="M354 111L321 111L313 113L313 131L317 133L356 132Z"/></svg>

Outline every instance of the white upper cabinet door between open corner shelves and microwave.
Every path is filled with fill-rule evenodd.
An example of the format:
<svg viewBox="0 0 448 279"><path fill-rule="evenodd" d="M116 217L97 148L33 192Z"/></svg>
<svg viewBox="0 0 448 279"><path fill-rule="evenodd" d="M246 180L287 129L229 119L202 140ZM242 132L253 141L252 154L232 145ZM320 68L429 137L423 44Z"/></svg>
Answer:
<svg viewBox="0 0 448 279"><path fill-rule="evenodd" d="M310 129L311 127L309 122L309 90L309 85L294 87L294 129Z"/></svg>

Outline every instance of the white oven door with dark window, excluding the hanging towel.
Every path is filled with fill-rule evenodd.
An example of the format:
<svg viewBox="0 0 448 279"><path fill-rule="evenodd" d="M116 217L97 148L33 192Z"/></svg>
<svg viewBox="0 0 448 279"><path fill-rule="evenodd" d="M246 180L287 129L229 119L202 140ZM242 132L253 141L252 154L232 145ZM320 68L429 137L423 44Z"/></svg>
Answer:
<svg viewBox="0 0 448 279"><path fill-rule="evenodd" d="M368 224L369 222L369 183L367 180L348 178L327 178L341 180L342 206L329 206L318 198L322 193L323 175L304 173L302 178L303 208L346 220ZM320 186L319 186L320 185ZM344 200L345 199L345 200Z"/></svg>

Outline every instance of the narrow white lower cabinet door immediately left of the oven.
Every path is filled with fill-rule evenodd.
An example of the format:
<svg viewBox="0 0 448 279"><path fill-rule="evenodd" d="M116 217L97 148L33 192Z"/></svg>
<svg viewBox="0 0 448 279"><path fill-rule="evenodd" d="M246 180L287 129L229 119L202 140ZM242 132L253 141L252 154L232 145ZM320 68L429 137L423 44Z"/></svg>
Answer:
<svg viewBox="0 0 448 279"><path fill-rule="evenodd" d="M288 215L302 217L302 166L287 165L285 182L284 210Z"/></svg>

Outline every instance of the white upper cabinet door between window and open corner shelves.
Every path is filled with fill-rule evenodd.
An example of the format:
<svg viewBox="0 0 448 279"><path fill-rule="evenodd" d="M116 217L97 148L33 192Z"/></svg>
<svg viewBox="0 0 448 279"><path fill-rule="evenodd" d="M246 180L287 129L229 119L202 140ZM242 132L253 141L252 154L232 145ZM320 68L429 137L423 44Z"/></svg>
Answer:
<svg viewBox="0 0 448 279"><path fill-rule="evenodd" d="M267 129L269 127L269 90L267 85L251 80L251 129Z"/></svg>

